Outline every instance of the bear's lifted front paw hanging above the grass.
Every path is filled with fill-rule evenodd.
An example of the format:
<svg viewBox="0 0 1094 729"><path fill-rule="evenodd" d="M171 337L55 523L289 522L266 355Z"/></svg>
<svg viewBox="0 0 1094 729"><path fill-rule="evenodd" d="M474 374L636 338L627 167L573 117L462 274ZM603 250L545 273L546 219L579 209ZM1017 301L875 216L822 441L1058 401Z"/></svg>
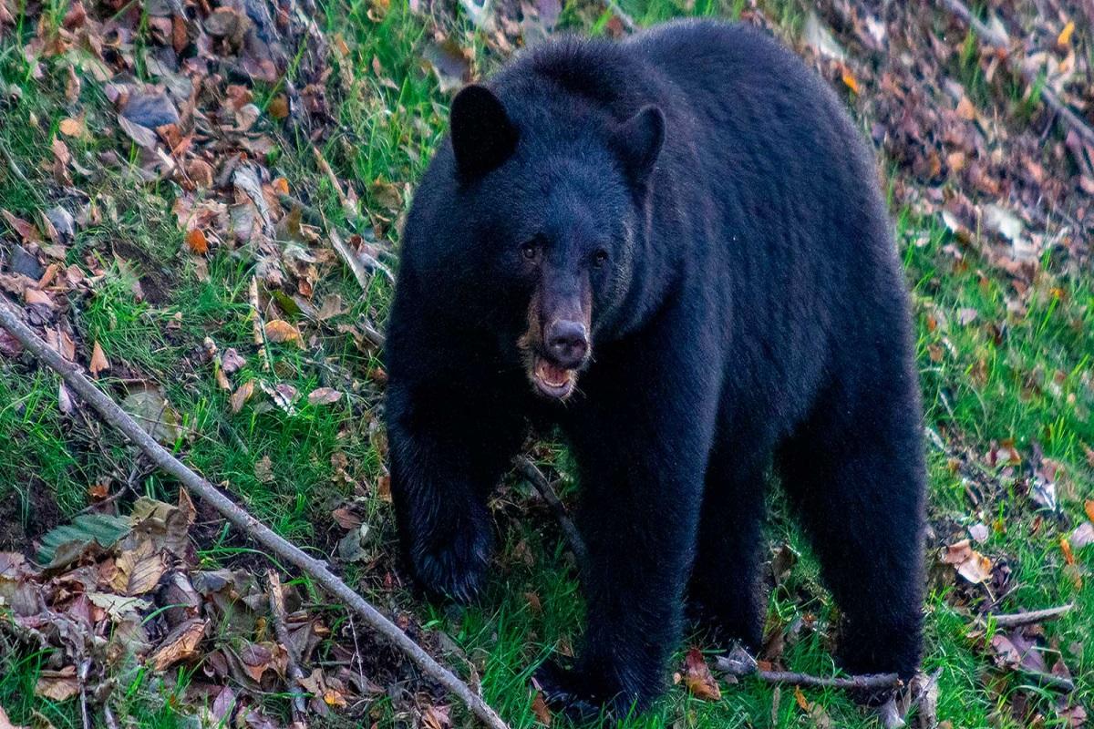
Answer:
<svg viewBox="0 0 1094 729"><path fill-rule="evenodd" d="M415 578L428 592L469 602L482 586L492 542L485 520L461 520L445 538L416 544L410 550Z"/></svg>

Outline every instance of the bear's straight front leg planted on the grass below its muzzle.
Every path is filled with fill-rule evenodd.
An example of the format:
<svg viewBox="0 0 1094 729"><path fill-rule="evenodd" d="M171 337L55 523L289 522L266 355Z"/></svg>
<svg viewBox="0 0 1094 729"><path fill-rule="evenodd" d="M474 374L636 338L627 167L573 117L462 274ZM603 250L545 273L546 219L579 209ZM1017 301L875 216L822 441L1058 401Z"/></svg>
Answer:
<svg viewBox="0 0 1094 729"><path fill-rule="evenodd" d="M582 718L602 706L640 712L664 691L696 549L714 399L654 407L636 392L655 390L625 386L629 397L574 413L571 431L587 625L572 668L550 663L536 679L548 702Z"/></svg>

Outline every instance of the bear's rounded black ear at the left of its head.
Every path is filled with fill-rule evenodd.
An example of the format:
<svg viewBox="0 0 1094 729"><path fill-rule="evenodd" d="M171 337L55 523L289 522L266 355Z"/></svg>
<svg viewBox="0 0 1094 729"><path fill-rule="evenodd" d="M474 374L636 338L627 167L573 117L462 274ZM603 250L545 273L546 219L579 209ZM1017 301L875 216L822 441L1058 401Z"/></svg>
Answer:
<svg viewBox="0 0 1094 729"><path fill-rule="evenodd" d="M516 127L501 101L486 86L472 84L456 94L450 127L456 169L465 179L494 169L516 149Z"/></svg>

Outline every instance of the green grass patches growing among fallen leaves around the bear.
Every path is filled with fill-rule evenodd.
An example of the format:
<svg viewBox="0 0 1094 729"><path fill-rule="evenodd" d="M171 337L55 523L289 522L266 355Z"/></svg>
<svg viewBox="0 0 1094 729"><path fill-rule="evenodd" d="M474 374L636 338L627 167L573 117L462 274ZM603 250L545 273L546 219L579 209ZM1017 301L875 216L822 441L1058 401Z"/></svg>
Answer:
<svg viewBox="0 0 1094 729"><path fill-rule="evenodd" d="M642 24L684 14L735 16L744 2L651 0L625 7ZM795 2L764 3L788 34L802 25L804 12ZM292 192L306 198L333 224L369 234L377 230L397 245L400 212L389 209L381 188L414 184L420 176L445 124L447 98L433 75L420 62L431 43L426 19L412 15L400 2L379 23L369 20L372 5L364 1L330 0L321 4L318 22L335 36L340 34L349 52L336 54L328 95L337 129L323 142L322 151L339 177L356 183L369 220L348 220L329 180L316 167L311 142L289 134L278 137L275 175L289 179ZM57 22L67 8L55 2L47 8ZM584 5L566 3L562 25L600 33L606 15ZM82 164L96 164L96 155L113 150L135 158L133 150L118 136L94 133L110 128L108 105L102 91L84 83L77 104L65 101L61 62L43 62L45 77L34 79L15 38L26 38L33 24L0 40L0 81L23 90L22 99L0 110L0 156L10 155L22 174L37 185L27 186L7 165L0 165L0 208L34 219L53 198L48 174L40 162L49 157L49 143L60 120L73 107L86 114L91 140L67 139ZM479 71L496 68L503 59L474 36L465 21L456 19L444 31L476 49ZM139 39L138 39L139 40ZM976 47L966 45L956 60L978 104L988 104L991 89L982 82L976 63ZM373 60L375 59L375 61ZM373 68L379 63L383 75ZM138 68L139 73L144 73ZM277 89L256 90L256 104L265 105ZM274 129L269 119L261 125ZM347 311L328 325L310 324L318 336L300 350L270 346L271 366L261 366L252 340L247 289L251 263L219 249L208 261L208 279L201 280L194 262L182 255L183 236L171 215L176 192L171 186L136 184L130 174L107 168L94 181L80 179L80 187L102 211L100 222L81 230L69 249L69 263L101 268L105 275L85 297L72 297L69 319L83 362L98 341L115 368L103 378L104 387L120 399L126 377L158 384L181 414L184 436L175 447L199 472L226 487L256 516L318 554L329 554L340 537L330 508L352 497L364 499L370 526L380 534L380 545L394 554L391 507L376 495L383 473L383 434L369 427L381 403L379 388L366 373L380 363L362 351L337 325L352 325L362 317L383 321L389 285L380 277L369 291L360 292L349 273L331 269L318 283L315 301L338 294ZM1094 330L1094 291L1090 279L1064 273L1051 257L1043 261L1045 274L1035 281L1035 292L1024 313L1008 309L1017 297L1008 278L993 270L974 250L950 239L940 222L921 219L907 210L894 211L898 242L909 285L913 291L918 321L917 352L924 392L927 426L955 451L967 448L984 454L992 442L1013 439L1028 458L1036 442L1047 458L1058 461L1061 509L1069 522L1082 518L1083 499L1091 497L1091 469L1085 447L1094 445L1094 388L1091 386L1090 332ZM0 225L3 225L0 223ZM344 228L344 230L345 230ZM5 236L11 235L4 230ZM962 260L954 251L961 252ZM92 266L89 266L89 260ZM121 261L121 262L119 262ZM1059 269L1059 270L1058 270ZM144 298L135 293L140 282ZM959 322L962 313L974 309L977 318ZM294 319L306 321L303 314ZM247 362L233 376L233 384L248 379L269 386L290 385L302 395L318 386L339 389L346 396L333 407L312 407L300 400L293 413L260 407L256 397L238 413L232 413L230 392L220 389L213 366L203 356L203 341L211 339L220 352L235 348ZM131 451L113 434L78 415L57 409L58 379L0 358L0 380L10 396L0 402L0 504L3 517L21 529L40 531L43 522L71 516L85 505L88 487L104 478L117 487L119 468L131 462ZM257 387L256 387L257 390ZM1073 671L1078 691L1073 702L1086 704L1094 692L1094 666L1081 645L1094 624L1094 596L1085 585L1076 587L1063 568L1059 539L1067 528L1051 518L1038 519L1028 498L1016 487L1016 474L979 467L994 484L979 505L970 503L962 474L951 465L951 455L926 440L930 462L931 516L940 529L938 543L956 538L959 527L977 521L999 524L981 550L1009 560L1016 586L1001 609L1035 609L1068 601L1076 610L1046 626L1046 633L1062 651ZM338 463L346 463L345 478ZM565 458L560 460L565 463ZM1021 475L1019 473L1017 475ZM176 484L151 474L138 484L148 495L171 501ZM394 596L382 591L382 574L351 565L351 584L363 585L379 604L396 604L428 630L447 633L463 657L449 657L465 675L468 663L481 679L486 698L514 727L531 727L529 672L551 650L577 645L582 603L572 565L565 556L558 530L538 509L524 514L529 502L523 484L510 482L494 499L494 513L503 534L493 578L486 593L472 608L457 609L416 601L409 592ZM45 505L45 506L44 506ZM54 509L49 512L49 507ZM791 670L831 673L827 628L835 605L819 586L817 568L807 545L775 499L769 528L772 545L789 543L802 558L789 579L771 597L769 628L785 630L795 619L810 614L815 632L805 631L789 645L783 660ZM48 524L46 524L48 526ZM14 533L22 533L19 530ZM19 548L22 544L5 544ZM202 543L200 558L216 566L242 557L255 558L249 546L226 528L214 530ZM1089 571L1094 551L1078 555L1081 569ZM931 557L933 561L933 556ZM391 564L387 560L385 564ZM939 717L954 727L1017 727L1010 717L1010 695L1022 685L1014 675L992 670L990 656L968 637L969 618L964 602L971 593L958 588L945 567L941 579L932 579L927 610L924 669L941 668ZM345 616L336 607L324 610L329 623L340 625ZM693 638L682 648L693 645ZM0 644L0 705L19 722L45 716L56 727L78 727L74 702L55 705L33 696L38 671L48 656L7 650ZM682 656L674 661L678 667ZM166 677L130 669L119 675L115 709L140 727L174 727L186 722L179 701L189 677ZM705 703L672 689L654 709L627 721L627 727L796 727L813 722L783 687L773 710L775 690L755 680L723 684L723 698ZM846 696L833 691L807 691L810 702L823 706L834 726L872 726ZM267 710L284 716L283 697L267 697ZM1054 726L1054 697L1041 695L1034 705ZM377 701L372 719L392 720L386 699ZM558 720L555 726L565 726Z"/></svg>

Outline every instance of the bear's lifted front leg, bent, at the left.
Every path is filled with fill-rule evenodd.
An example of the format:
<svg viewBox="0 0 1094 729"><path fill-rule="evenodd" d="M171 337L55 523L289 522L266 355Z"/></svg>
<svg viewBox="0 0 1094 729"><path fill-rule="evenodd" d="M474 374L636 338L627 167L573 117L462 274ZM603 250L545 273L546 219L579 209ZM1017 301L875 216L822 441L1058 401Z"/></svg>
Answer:
<svg viewBox="0 0 1094 729"><path fill-rule="evenodd" d="M434 388L387 393L392 499L416 581L462 602L493 546L486 499L524 437L521 418Z"/></svg>

